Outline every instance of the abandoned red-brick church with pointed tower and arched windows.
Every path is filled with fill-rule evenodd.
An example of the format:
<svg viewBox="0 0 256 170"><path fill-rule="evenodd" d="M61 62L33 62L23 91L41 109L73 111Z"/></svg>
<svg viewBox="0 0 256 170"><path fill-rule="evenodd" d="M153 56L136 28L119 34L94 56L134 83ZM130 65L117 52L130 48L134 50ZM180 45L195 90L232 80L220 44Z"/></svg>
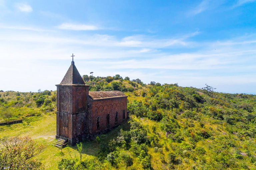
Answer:
<svg viewBox="0 0 256 170"><path fill-rule="evenodd" d="M120 91L90 92L74 61L57 86L57 134L74 145L120 125L128 118L127 96Z"/></svg>

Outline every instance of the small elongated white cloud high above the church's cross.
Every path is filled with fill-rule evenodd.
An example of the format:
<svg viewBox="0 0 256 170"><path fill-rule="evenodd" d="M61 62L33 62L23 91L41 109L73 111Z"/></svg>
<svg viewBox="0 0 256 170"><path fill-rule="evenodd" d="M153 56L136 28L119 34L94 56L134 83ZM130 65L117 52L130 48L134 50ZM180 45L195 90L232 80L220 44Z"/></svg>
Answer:
<svg viewBox="0 0 256 170"><path fill-rule="evenodd" d="M100 28L93 26L93 25L83 25L83 24L70 24L70 23L63 23L58 26L59 29L63 30L75 30L75 31L92 31L92 30L99 30Z"/></svg>

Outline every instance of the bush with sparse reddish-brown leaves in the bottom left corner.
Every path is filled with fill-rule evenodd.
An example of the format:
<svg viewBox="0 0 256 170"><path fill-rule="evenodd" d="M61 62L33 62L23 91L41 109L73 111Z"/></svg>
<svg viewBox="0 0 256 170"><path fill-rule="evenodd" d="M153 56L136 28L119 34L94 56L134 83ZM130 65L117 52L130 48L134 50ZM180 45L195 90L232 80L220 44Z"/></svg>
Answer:
<svg viewBox="0 0 256 170"><path fill-rule="evenodd" d="M0 139L0 169L9 170L39 170L42 163L32 159L39 155L46 147L35 143L29 136Z"/></svg>

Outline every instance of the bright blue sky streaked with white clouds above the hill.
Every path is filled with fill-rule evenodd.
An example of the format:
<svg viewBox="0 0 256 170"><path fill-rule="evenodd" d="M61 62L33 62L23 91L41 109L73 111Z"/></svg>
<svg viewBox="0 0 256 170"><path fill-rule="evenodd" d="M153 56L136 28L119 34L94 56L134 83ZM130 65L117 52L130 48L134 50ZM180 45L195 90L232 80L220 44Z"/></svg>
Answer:
<svg viewBox="0 0 256 170"><path fill-rule="evenodd" d="M120 74L256 94L256 0L0 0L0 90Z"/></svg>

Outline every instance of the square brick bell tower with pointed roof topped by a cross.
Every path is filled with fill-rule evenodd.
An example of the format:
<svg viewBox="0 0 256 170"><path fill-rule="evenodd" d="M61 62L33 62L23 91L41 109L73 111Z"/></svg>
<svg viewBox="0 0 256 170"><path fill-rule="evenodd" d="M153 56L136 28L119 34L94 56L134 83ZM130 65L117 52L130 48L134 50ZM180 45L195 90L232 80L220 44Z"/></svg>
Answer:
<svg viewBox="0 0 256 170"><path fill-rule="evenodd" d="M63 80L56 86L56 138L66 138L68 143L74 144L75 138L84 133L85 120L77 119L77 115L86 115L86 97L89 95L89 85L85 85L73 59Z"/></svg>

